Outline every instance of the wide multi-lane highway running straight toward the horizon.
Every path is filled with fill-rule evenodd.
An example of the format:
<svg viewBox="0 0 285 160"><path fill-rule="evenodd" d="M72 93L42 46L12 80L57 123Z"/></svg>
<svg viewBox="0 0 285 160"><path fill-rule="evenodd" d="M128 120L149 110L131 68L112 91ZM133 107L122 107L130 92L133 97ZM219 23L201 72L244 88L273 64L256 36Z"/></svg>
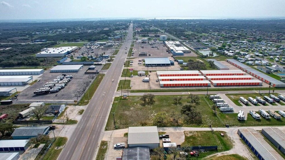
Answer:
<svg viewBox="0 0 285 160"><path fill-rule="evenodd" d="M108 111L111 107L118 80L127 57L125 52L128 50L125 50L125 47L129 49L131 44L133 36L132 28L131 24L126 37L127 42L123 43L123 46L116 55L112 65L89 102L87 109L84 111L81 120L78 122L76 129L59 155L59 160L95 159L96 147L100 145L99 138L105 127L105 120L108 117ZM112 81L113 79L114 81Z"/></svg>

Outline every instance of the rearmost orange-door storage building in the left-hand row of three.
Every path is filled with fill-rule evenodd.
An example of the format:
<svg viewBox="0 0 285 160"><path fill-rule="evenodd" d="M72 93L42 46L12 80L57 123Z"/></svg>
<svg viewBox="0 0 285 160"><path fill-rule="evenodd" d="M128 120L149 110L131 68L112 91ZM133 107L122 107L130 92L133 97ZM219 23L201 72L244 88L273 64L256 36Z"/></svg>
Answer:
<svg viewBox="0 0 285 160"><path fill-rule="evenodd" d="M156 71L156 75L159 77L166 76L201 76L202 74L198 70L159 70Z"/></svg>

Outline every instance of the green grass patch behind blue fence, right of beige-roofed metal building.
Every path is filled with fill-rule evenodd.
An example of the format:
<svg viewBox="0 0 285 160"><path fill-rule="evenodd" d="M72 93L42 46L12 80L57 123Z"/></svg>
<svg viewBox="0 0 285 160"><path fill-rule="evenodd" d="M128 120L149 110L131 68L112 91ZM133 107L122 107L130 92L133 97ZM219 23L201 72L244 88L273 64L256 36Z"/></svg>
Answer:
<svg viewBox="0 0 285 160"><path fill-rule="evenodd" d="M220 135L224 133L224 137ZM185 141L181 144L181 147L187 146L218 146L218 151L211 151L206 153L200 153L199 158L207 157L210 154L216 152L222 152L230 150L233 147L230 137L226 132L212 133L211 131L184 131Z"/></svg>

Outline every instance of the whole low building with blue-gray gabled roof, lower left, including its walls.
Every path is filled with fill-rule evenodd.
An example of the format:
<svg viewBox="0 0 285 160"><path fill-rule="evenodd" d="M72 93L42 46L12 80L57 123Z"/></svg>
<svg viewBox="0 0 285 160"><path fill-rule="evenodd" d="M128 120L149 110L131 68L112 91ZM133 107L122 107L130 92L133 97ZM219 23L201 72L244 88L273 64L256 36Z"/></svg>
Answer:
<svg viewBox="0 0 285 160"><path fill-rule="evenodd" d="M12 133L13 139L29 139L38 135L46 135L50 126L22 126Z"/></svg>

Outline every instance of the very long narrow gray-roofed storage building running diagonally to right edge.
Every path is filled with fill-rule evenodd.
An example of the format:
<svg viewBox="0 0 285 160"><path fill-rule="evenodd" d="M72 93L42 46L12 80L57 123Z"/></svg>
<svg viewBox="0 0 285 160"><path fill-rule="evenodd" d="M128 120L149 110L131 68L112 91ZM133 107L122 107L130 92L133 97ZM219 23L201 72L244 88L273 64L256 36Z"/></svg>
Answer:
<svg viewBox="0 0 285 160"><path fill-rule="evenodd" d="M263 74L262 72L259 72L249 66L246 66L245 64L242 64L235 59L226 59L226 62L229 62L230 64L244 70L245 72L249 73L250 75L253 75L254 77L260 79L261 81L264 81L265 83L271 83L273 87L285 87L285 83L278 81L275 78L272 78L268 75Z"/></svg>

